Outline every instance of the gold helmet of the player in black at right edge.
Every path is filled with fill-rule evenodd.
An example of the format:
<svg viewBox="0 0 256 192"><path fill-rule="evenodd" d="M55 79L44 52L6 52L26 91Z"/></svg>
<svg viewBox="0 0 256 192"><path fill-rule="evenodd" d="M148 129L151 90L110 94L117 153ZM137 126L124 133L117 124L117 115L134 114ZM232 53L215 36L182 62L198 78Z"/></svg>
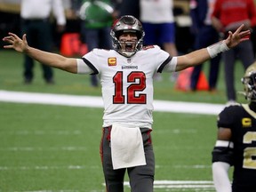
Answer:
<svg viewBox="0 0 256 192"><path fill-rule="evenodd" d="M249 66L241 79L244 84L244 96L246 100L256 101L256 62Z"/></svg>

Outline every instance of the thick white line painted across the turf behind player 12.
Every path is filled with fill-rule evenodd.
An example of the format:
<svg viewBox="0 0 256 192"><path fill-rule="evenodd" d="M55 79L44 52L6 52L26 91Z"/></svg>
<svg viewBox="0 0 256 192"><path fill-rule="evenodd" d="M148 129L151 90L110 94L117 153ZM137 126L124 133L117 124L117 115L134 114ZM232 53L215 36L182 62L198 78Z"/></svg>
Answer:
<svg viewBox="0 0 256 192"><path fill-rule="evenodd" d="M51 94L40 92L10 92L0 90L0 101L103 108L101 97ZM225 107L221 104L154 100L154 110L162 112L217 115Z"/></svg>

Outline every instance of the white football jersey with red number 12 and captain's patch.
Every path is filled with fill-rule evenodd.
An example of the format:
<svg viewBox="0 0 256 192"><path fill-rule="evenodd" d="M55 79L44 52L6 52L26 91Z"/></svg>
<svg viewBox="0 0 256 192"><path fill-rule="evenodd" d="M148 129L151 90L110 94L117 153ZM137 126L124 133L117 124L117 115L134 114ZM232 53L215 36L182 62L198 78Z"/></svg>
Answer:
<svg viewBox="0 0 256 192"><path fill-rule="evenodd" d="M77 60L78 74L86 71L83 68L88 73L89 66L100 75L103 126L121 123L151 128L154 73L174 71L177 60L157 45L144 47L131 58L115 50L93 49L82 59Z"/></svg>

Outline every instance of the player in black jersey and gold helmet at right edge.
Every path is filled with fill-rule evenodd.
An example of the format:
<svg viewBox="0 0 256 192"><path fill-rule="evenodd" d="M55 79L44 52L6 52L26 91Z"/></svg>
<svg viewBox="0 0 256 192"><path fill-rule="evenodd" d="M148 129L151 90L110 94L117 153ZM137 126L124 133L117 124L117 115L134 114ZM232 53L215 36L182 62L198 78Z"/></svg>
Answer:
<svg viewBox="0 0 256 192"><path fill-rule="evenodd" d="M256 191L256 62L242 78L249 104L224 108L218 118L218 139L212 151L212 174L217 192ZM228 178L234 166L232 186Z"/></svg>

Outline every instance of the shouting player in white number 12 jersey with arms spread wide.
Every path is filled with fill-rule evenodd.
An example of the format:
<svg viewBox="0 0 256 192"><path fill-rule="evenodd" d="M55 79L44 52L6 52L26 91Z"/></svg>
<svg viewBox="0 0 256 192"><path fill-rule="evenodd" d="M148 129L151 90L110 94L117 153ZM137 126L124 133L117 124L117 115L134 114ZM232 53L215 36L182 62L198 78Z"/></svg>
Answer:
<svg viewBox="0 0 256 192"><path fill-rule="evenodd" d="M108 192L124 191L127 171L133 192L152 192L155 158L152 131L153 75L196 66L247 40L242 25L226 40L184 56L171 57L158 46L143 47L140 21L125 15L111 30L114 50L94 49L82 59L66 58L30 47L26 35L9 33L6 49L28 54L53 68L75 74L99 74L104 101L100 155Z"/></svg>

